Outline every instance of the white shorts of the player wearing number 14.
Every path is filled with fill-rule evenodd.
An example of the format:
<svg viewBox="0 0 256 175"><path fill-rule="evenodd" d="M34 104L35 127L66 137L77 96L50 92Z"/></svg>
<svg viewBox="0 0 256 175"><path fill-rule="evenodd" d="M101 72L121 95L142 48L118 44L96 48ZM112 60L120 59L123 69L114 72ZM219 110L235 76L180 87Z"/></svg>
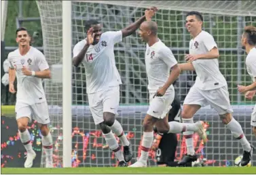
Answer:
<svg viewBox="0 0 256 175"><path fill-rule="evenodd" d="M112 86L109 89L88 94L89 107L95 124L104 121L103 112L111 112L117 115L117 108L120 102L119 86Z"/></svg>

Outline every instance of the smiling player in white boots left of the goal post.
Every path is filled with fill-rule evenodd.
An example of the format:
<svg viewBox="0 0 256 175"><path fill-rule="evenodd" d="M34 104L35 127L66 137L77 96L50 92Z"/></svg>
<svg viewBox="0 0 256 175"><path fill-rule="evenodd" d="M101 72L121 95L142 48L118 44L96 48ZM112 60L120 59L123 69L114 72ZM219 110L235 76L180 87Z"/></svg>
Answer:
<svg viewBox="0 0 256 175"><path fill-rule="evenodd" d="M36 153L31 145L31 136L27 125L31 122L31 113L38 122L42 138L43 149L46 154L46 167L52 167L52 136L47 124L50 123L48 104L43 91L42 78L50 78L51 73L43 53L30 46L31 37L26 28L16 30L18 49L8 55L10 63L9 80L10 93L16 93L14 80L17 77L16 120L20 141L23 143L27 155L25 168L33 166Z"/></svg>

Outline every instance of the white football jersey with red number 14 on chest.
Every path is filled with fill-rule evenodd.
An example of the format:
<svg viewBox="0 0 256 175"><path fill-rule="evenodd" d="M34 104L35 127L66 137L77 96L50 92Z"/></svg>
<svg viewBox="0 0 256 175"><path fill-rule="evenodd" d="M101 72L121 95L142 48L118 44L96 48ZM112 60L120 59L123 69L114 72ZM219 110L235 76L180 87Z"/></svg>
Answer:
<svg viewBox="0 0 256 175"><path fill-rule="evenodd" d="M96 45L90 45L84 57L86 68L86 92L96 93L109 86L122 84L120 74L115 66L115 43L122 41L122 31L104 32ZM73 49L73 57L77 56L86 45L86 39L77 43Z"/></svg>

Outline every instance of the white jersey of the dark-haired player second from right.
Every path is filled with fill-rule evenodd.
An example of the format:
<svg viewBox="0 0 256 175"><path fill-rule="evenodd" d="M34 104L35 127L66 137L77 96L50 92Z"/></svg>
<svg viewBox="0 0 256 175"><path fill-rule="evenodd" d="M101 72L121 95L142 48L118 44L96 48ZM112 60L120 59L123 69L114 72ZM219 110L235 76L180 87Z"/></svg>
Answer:
<svg viewBox="0 0 256 175"><path fill-rule="evenodd" d="M202 30L198 36L191 39L189 43L189 54L198 55L205 54L217 47L213 36ZM227 86L227 82L219 71L219 60L216 59L197 59L192 61L196 70L196 82L194 86L198 86L201 90L218 89Z"/></svg>

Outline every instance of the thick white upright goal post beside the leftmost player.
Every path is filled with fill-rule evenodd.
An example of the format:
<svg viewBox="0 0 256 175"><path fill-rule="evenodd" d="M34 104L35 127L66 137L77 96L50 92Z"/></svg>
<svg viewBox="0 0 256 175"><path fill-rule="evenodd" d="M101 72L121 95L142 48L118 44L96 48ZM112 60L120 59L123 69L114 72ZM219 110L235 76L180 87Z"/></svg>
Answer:
<svg viewBox="0 0 256 175"><path fill-rule="evenodd" d="M72 153L72 13L71 1L62 1L63 167L71 167ZM63 37L64 36L64 37Z"/></svg>

